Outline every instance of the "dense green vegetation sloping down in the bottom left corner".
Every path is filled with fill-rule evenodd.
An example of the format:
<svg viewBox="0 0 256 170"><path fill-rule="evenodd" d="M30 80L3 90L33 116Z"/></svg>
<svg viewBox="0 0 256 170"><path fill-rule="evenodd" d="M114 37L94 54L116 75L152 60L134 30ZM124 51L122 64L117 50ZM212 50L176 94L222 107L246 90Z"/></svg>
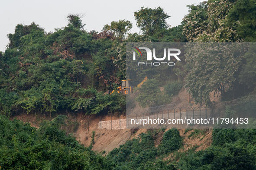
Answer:
<svg viewBox="0 0 256 170"><path fill-rule="evenodd" d="M115 164L60 130L58 116L39 129L0 116L1 170L111 170Z"/></svg>

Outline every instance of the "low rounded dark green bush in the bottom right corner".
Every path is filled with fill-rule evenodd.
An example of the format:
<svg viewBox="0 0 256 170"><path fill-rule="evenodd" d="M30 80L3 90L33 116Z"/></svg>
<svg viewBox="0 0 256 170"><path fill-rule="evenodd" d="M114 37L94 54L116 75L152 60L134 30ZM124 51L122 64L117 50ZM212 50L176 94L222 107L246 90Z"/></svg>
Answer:
<svg viewBox="0 0 256 170"><path fill-rule="evenodd" d="M211 146L205 151L191 152L181 157L180 170L255 170L255 155L236 144L225 148Z"/></svg>

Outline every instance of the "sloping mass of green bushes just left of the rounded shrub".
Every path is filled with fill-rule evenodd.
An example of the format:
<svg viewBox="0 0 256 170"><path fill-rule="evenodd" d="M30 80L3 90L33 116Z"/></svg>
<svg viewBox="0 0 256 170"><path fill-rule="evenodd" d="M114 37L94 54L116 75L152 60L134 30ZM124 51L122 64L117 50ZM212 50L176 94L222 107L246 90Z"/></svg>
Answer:
<svg viewBox="0 0 256 170"><path fill-rule="evenodd" d="M119 148L110 151L107 159L117 162L120 169L168 170L170 168L175 170L173 165L166 165L156 160L156 156L159 156L157 150L151 133L141 133L138 138L129 140Z"/></svg>

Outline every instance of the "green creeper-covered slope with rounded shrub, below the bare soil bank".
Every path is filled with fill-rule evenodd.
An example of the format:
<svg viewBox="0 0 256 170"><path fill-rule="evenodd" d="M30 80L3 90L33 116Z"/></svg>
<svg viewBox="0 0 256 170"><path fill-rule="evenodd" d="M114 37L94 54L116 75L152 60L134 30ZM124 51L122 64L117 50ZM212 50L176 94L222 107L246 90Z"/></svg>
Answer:
<svg viewBox="0 0 256 170"><path fill-rule="evenodd" d="M166 165L161 159L156 160L156 157L178 150L181 147L181 136L177 129L170 129L163 135L162 145L155 147L153 136L161 131L156 129L147 134L141 133L137 139L129 140L110 151L107 159L117 163L120 169L175 170L174 165ZM166 143L170 144L167 148Z"/></svg>

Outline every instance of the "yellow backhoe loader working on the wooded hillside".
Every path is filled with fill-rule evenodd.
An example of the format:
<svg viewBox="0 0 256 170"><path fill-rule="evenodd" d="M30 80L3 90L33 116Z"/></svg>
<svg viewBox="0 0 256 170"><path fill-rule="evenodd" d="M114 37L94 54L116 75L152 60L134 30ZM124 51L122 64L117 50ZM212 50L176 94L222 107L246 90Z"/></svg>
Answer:
<svg viewBox="0 0 256 170"><path fill-rule="evenodd" d="M146 82L148 77L146 76L142 82L140 82L137 87L141 87L144 82ZM107 90L105 94L112 94L114 90ZM120 94L130 94L133 93L133 80L122 80L122 85L117 88L117 93Z"/></svg>

